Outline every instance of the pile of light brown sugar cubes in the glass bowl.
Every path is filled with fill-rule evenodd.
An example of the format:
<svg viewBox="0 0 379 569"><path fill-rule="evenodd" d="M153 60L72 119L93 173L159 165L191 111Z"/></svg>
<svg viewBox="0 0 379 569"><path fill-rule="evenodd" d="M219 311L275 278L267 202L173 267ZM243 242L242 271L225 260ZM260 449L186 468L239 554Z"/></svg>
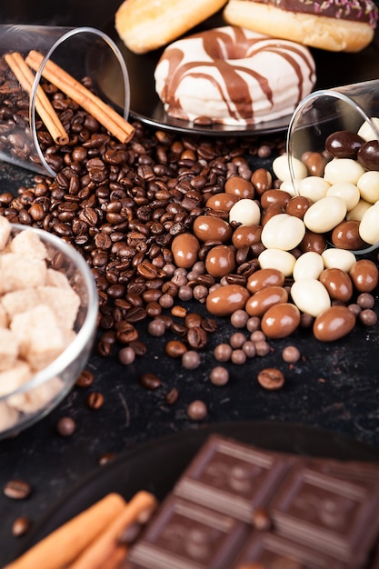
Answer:
<svg viewBox="0 0 379 569"><path fill-rule="evenodd" d="M39 235L29 228L15 236L11 231L0 216L0 432L62 390L62 380L53 377L13 394L74 340L80 304L65 274L47 265Z"/></svg>

